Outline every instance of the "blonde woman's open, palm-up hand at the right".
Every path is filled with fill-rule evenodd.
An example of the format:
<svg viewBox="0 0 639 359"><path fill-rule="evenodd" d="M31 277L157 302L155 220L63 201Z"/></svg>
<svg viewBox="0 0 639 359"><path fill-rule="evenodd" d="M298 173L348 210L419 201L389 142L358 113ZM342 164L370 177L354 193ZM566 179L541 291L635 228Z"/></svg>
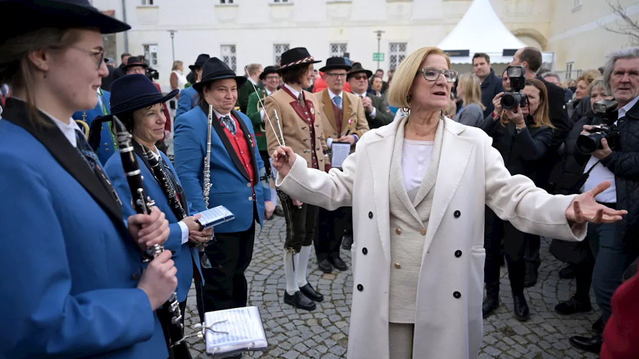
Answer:
<svg viewBox="0 0 639 359"><path fill-rule="evenodd" d="M622 215L626 215L626 210L613 210L603 204L597 203L595 197L610 187L610 181L603 181L588 192L584 192L574 197L573 202L566 210L566 219L571 224L589 223L614 223L621 220Z"/></svg>

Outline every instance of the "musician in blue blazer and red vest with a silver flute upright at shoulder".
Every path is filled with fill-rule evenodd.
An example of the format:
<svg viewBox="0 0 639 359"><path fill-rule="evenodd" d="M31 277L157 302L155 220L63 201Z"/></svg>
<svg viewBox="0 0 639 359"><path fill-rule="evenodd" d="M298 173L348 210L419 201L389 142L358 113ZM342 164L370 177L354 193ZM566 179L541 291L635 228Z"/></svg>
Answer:
<svg viewBox="0 0 639 359"><path fill-rule="evenodd" d="M246 305L244 271L253 254L255 222L263 225L274 207L253 126L245 114L233 109L237 88L246 78L236 76L217 57L204 63L202 73L202 80L192 86L199 105L176 122L174 148L175 169L193 208L199 212L222 205L235 215L215 227L215 241L206 247L213 268L202 271L203 307L210 312ZM204 174L208 146L210 171ZM208 188L205 175L210 179Z"/></svg>

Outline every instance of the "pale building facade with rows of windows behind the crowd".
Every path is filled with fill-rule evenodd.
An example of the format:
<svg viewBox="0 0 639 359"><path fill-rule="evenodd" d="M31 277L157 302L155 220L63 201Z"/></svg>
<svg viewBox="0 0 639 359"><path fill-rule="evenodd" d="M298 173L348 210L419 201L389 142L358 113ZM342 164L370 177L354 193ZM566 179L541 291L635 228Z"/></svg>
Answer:
<svg viewBox="0 0 639 359"><path fill-rule="evenodd" d="M639 18L637 0L619 1L633 19ZM117 34L115 52L144 54L160 72L158 82L165 89L173 59L190 65L201 53L220 57L240 74L249 63L273 65L279 62L282 52L300 46L307 47L317 59L348 52L353 61L360 61L366 68L387 71L413 50L441 42L471 3L472 0L93 0L96 8L114 10L115 17L132 26L127 33ZM599 22L612 25L614 20L604 0L490 3L522 42L555 52L555 70L568 68L576 73L597 68L603 65L606 52L628 45L627 37L599 27ZM175 31L173 42L170 30ZM383 31L379 43L375 31ZM477 31L482 31L482 24L477 24ZM384 54L379 66L373 59L375 52Z"/></svg>

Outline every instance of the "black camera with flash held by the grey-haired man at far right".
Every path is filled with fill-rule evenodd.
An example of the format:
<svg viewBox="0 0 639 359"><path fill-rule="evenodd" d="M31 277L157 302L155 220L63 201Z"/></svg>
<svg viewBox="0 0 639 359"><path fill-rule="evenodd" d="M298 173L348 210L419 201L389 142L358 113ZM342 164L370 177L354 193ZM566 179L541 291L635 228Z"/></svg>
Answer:
<svg viewBox="0 0 639 359"><path fill-rule="evenodd" d="M602 149L601 139L606 139L608 147L614 148L619 140L619 129L615 125L617 121L617 101L601 100L592 105L595 118L592 123L602 123L603 125L592 126L587 135L577 137L577 151L583 155L590 155L597 149Z"/></svg>

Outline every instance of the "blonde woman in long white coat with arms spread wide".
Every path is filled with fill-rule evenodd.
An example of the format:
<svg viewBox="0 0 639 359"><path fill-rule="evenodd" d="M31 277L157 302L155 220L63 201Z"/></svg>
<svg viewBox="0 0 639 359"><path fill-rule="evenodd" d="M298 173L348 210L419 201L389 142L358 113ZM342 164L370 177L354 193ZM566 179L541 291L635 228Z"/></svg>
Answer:
<svg viewBox="0 0 639 359"><path fill-rule="evenodd" d="M277 185L300 201L353 206L353 309L348 358L475 358L482 337L484 205L521 231L578 241L585 222L625 211L549 195L511 176L481 129L444 118L457 73L442 50L406 57L389 102L409 116L367 132L343 171L272 155ZM390 175L392 173L392 176Z"/></svg>

